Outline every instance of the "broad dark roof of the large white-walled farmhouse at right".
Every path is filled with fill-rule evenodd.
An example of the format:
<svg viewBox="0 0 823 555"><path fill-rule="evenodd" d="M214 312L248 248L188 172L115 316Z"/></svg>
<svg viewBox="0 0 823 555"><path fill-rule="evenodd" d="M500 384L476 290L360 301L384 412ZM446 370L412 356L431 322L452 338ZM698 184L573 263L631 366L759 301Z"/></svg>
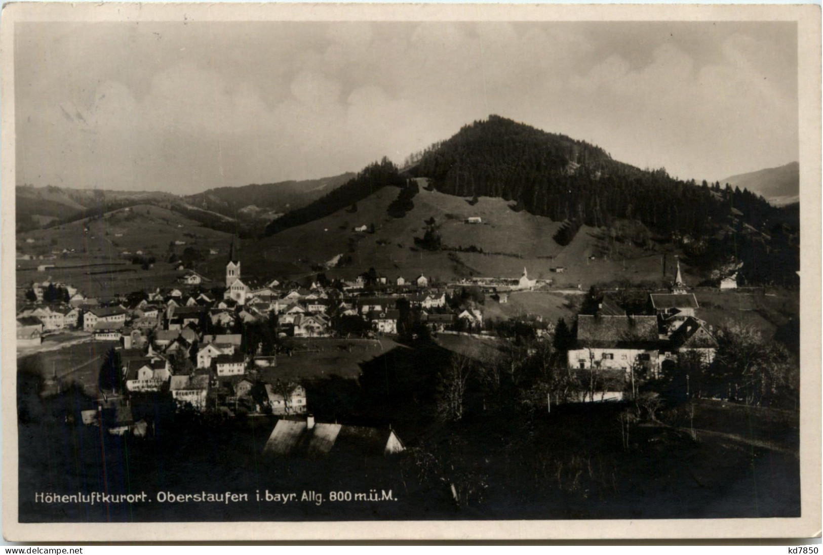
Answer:
<svg viewBox="0 0 823 555"><path fill-rule="evenodd" d="M577 317L579 346L592 347L653 347L658 343L656 316L590 316Z"/></svg>

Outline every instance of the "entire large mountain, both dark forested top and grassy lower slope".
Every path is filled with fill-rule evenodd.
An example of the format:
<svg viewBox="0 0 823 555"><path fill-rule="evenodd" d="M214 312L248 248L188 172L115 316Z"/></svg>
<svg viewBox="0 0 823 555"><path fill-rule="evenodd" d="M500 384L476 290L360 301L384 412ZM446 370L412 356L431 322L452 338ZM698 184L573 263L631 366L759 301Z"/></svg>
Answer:
<svg viewBox="0 0 823 555"><path fill-rule="evenodd" d="M439 194L432 197L432 192ZM494 202L492 211L481 216L483 227L477 227L462 224L466 210L449 210L451 215L421 210L421 201L434 198L436 206L431 207L440 212L455 202L469 211L479 210L486 199ZM522 220L515 222L544 219L542 232L535 235L524 224L511 224L504 231L491 232L496 242L504 244L477 244L509 212L522 214ZM431 217L438 229L439 218L449 220L443 229L461 222L456 237L442 237L446 247L456 250L413 250L420 247L416 239L425 239L425 228L431 225L423 220ZM396 229L409 221L413 225ZM491 228L485 227L487 222ZM352 235L356 232L349 228L362 225L369 229L374 225L378 237ZM779 234L774 234L775 225ZM687 258L707 278L736 257L744 262L741 275L746 283L793 283L799 257L796 229L791 213L770 206L745 188L682 181L665 169L639 169L613 160L585 141L492 115L410 156L402 170L388 160L371 164L325 197L273 220L266 228L268 238L260 245L271 248L265 248L260 262L271 266L270 271L286 271L288 266L293 272L309 272L342 254L359 271L374 266L384 271L440 268L449 275L503 275L500 271L511 273L520 262L493 261L514 262L519 257L545 271L551 257L570 249L578 255L569 257L574 272L567 275L578 275L581 282L595 277L616 280L621 275L639 279L641 275L623 275L622 266L595 274L587 267L603 252L613 256L615 244L624 243L648 252L682 247L684 261ZM581 238L594 243L588 250L581 248ZM360 248L372 240L374 249ZM530 242L537 242L543 251L532 252ZM468 251L472 245L482 252ZM408 257L409 252L417 255ZM277 261L274 266L273 261ZM351 271L356 270L346 270Z"/></svg>

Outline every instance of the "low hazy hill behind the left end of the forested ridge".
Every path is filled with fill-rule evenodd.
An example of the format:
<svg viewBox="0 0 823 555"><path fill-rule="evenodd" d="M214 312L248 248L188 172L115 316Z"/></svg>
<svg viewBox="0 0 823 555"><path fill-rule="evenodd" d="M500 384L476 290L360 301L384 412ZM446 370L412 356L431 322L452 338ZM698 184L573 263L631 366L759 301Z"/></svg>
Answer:
<svg viewBox="0 0 823 555"><path fill-rule="evenodd" d="M198 206L236 218L272 220L288 210L295 210L346 183L354 173L341 173L330 178L279 183L253 183L241 187L216 187L184 200Z"/></svg>

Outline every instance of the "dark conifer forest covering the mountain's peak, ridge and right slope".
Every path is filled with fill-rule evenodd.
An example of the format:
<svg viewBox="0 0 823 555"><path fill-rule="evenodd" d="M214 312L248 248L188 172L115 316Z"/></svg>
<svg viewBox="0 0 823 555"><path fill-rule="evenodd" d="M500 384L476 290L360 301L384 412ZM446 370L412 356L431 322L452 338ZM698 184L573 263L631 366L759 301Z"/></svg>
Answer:
<svg viewBox="0 0 823 555"><path fill-rule="evenodd" d="M369 197L387 185L401 187L389 215L402 217L416 189L407 177L458 197L499 197L509 208L564 222L547 241L569 244L581 226L621 237L619 220L644 224L653 239L676 243L692 266L717 279L743 262L743 283L794 284L799 267L796 211L771 206L745 188L672 178L665 169L639 169L605 150L568 136L492 115L463 127L446 141L411 155L402 172L384 160L327 196L267 226L266 234L306 224ZM647 241L644 238L643 241ZM733 261L733 262L732 262Z"/></svg>

